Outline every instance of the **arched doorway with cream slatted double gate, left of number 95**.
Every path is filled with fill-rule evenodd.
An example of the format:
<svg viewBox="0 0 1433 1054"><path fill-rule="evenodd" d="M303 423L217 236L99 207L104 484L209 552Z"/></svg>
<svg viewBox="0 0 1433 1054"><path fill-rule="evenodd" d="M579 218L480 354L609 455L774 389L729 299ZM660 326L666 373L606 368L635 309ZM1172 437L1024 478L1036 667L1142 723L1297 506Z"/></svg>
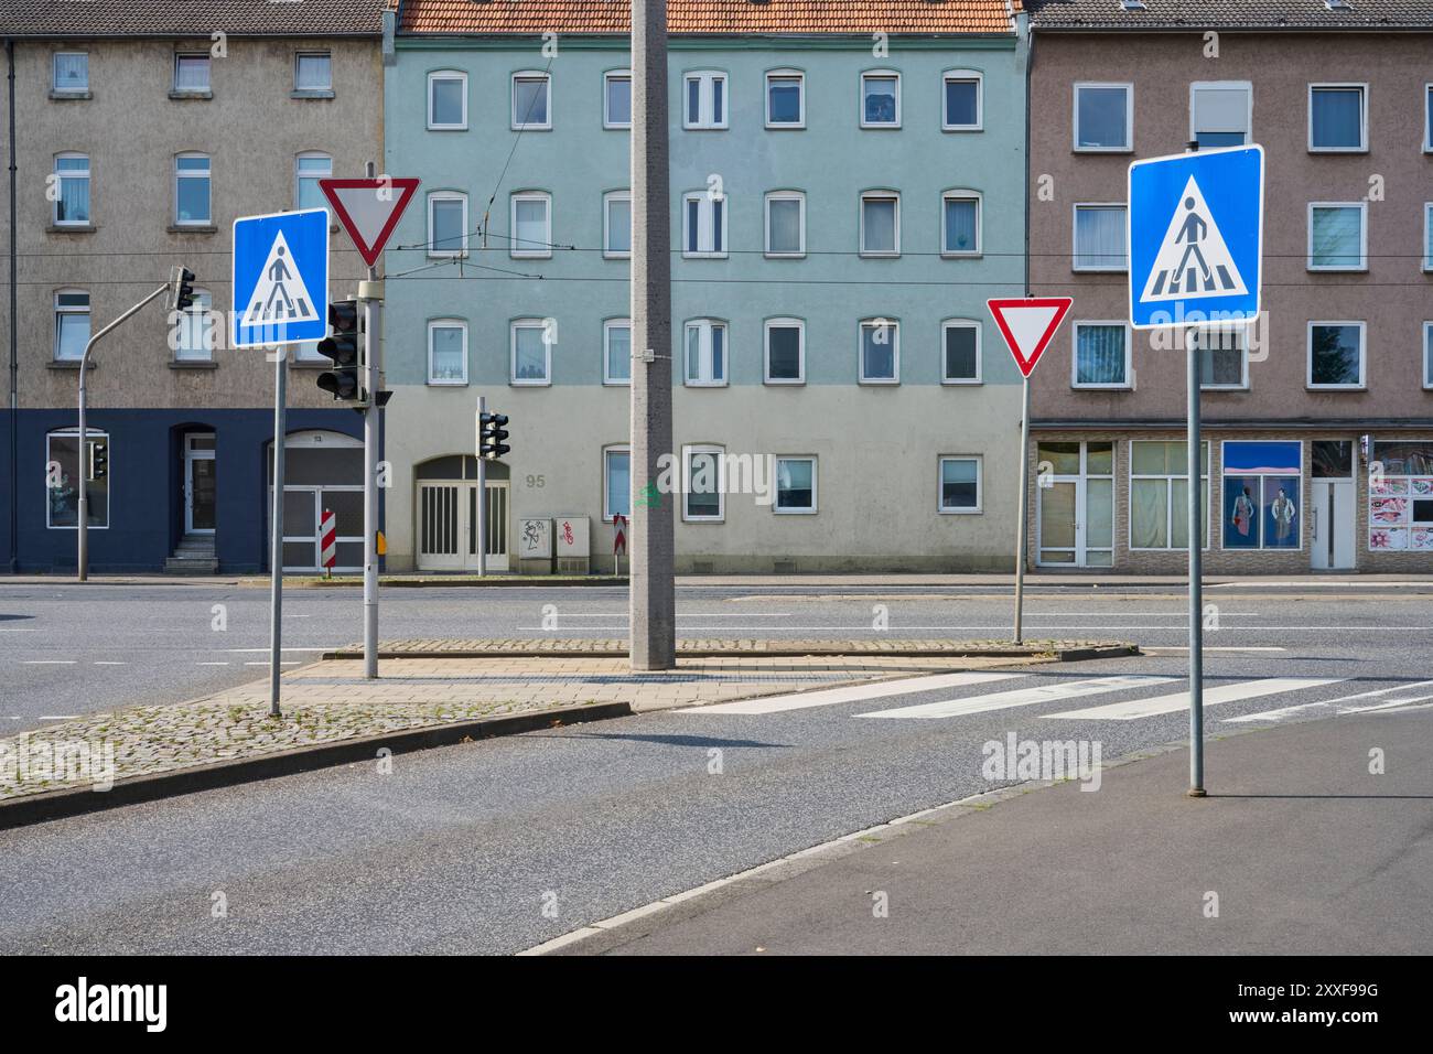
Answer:
<svg viewBox="0 0 1433 1054"><path fill-rule="evenodd" d="M477 571L477 457L449 455L413 469L418 571ZM487 463L487 571L509 569L507 466Z"/></svg>

